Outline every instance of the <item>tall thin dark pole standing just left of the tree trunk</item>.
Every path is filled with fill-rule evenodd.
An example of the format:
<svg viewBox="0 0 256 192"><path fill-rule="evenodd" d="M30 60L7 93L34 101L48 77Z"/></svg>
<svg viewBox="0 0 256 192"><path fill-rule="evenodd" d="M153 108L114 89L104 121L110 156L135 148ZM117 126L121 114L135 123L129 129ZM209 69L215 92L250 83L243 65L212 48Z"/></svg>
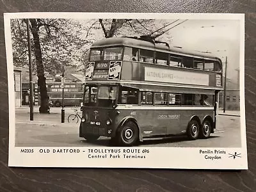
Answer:
<svg viewBox="0 0 256 192"><path fill-rule="evenodd" d="M31 39L30 39L30 32L29 32L29 19L26 19L27 22L27 37L28 37L28 61L29 61L29 88L30 88L30 95L29 95L29 108L30 108L30 120L34 120L34 92L33 92L33 80L32 80L32 73L33 73L33 65L32 65L32 56L31 56Z"/></svg>

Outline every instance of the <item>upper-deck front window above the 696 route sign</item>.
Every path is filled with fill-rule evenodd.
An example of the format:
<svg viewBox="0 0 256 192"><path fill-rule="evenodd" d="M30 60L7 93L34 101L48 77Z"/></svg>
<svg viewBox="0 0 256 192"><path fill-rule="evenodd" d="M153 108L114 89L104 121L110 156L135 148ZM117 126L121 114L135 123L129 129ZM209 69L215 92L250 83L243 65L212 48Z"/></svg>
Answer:
<svg viewBox="0 0 256 192"><path fill-rule="evenodd" d="M93 48L90 61L109 61L122 59L122 47Z"/></svg>

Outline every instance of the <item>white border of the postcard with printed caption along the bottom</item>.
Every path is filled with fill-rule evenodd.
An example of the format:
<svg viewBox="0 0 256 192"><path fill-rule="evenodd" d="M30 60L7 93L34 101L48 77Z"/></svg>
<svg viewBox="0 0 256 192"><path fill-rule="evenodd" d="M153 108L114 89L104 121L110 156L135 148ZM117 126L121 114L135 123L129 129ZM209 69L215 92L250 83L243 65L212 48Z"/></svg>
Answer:
<svg viewBox="0 0 256 192"><path fill-rule="evenodd" d="M15 147L15 95L13 79L12 44L10 35L10 19L24 18L63 18L63 19L97 19L97 18L131 18L131 19L234 19L240 20L240 111L241 111L241 148L195 148L195 147L132 147L129 149L140 149L146 154L145 159L88 159L89 149L113 149L113 147L26 147L35 152L33 154L21 154L24 147ZM189 168L189 169L248 169L246 150L245 129L245 106L244 106L244 14L230 13L4 13L4 33L6 40L6 61L8 69L8 104L9 104L9 166L28 167L115 167L115 168ZM55 149L76 149L78 154L69 153L47 153ZM40 152L40 149L46 152ZM117 148L118 149L118 148ZM121 151L125 148L119 148ZM148 153L147 153L148 150ZM208 154L200 153L200 150L220 150L225 154L219 154L220 159L205 159ZM233 158L239 154L241 157ZM121 154L122 155L122 154ZM130 154L129 154L130 155ZM131 154L132 155L132 154ZM139 154L136 154L139 155ZM211 155L211 154L210 154ZM215 155L215 154L214 154ZM233 156L232 156L233 155ZM86 157L87 156L87 157ZM161 158L163 157L163 159ZM63 160L65 159L65 160ZM160 162L161 161L161 162Z"/></svg>

